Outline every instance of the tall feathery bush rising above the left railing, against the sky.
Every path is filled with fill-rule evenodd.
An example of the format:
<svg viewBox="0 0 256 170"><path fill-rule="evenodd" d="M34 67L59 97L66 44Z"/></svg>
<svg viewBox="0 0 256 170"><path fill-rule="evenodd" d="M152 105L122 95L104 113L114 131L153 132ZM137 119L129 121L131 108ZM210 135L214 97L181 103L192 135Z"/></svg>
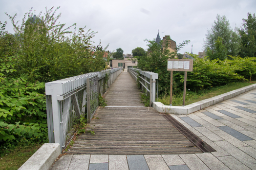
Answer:
<svg viewBox="0 0 256 170"><path fill-rule="evenodd" d="M17 14L13 17L6 14L15 31L17 43L13 49L19 56L17 73L28 74L29 80L50 82L105 67L102 53L95 53L101 48L95 47L92 41L97 32L85 31L85 27L77 31L76 24L65 28L65 24L58 23L61 17L56 14L58 9L45 8L44 16L41 12L35 23L31 22L31 9L25 13L21 25L15 22Z"/></svg>

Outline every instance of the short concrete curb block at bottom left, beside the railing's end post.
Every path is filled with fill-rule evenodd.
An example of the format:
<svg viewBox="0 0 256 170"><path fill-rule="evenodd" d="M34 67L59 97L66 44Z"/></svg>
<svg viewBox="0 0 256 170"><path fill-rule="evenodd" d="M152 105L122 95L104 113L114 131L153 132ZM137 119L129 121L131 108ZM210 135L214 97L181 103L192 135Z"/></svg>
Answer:
<svg viewBox="0 0 256 170"><path fill-rule="evenodd" d="M59 143L44 143L19 170L49 170L60 154L61 149Z"/></svg>

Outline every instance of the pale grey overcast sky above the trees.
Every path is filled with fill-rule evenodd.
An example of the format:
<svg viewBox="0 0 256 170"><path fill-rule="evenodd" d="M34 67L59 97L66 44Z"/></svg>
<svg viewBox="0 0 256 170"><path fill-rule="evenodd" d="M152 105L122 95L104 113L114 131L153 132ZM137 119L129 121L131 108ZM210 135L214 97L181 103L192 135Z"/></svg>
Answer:
<svg viewBox="0 0 256 170"><path fill-rule="evenodd" d="M256 0L0 0L0 21L7 20L7 30L13 33L4 12L17 13L21 20L31 7L38 15L52 6L61 7L61 23L86 25L98 32L93 38L96 44L101 39L102 45L109 43L109 51L122 48L125 54L136 47L146 50L143 40L156 38L158 30L161 39L170 35L177 45L191 40L179 52L191 52L193 44L193 53L198 54L217 14L225 15L234 29L241 27L248 12L256 13Z"/></svg>

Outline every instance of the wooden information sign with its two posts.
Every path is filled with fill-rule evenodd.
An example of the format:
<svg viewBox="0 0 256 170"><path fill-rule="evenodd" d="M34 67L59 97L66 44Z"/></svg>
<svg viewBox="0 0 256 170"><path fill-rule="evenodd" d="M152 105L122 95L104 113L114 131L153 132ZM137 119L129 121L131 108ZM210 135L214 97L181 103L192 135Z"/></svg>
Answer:
<svg viewBox="0 0 256 170"><path fill-rule="evenodd" d="M167 70L171 71L170 83L170 106L172 105L172 71L185 71L184 73L184 90L183 90L183 106L185 106L187 71L193 71L192 59L168 59Z"/></svg>

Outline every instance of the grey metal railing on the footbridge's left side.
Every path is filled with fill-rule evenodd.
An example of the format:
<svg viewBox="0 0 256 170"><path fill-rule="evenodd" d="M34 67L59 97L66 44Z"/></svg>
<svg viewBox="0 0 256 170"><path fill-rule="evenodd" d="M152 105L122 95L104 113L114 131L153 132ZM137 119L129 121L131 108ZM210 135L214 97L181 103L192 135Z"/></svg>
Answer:
<svg viewBox="0 0 256 170"><path fill-rule="evenodd" d="M113 68L46 83L49 143L60 143L64 149L80 117L87 115L90 122L99 93L103 95L120 73L121 68Z"/></svg>

